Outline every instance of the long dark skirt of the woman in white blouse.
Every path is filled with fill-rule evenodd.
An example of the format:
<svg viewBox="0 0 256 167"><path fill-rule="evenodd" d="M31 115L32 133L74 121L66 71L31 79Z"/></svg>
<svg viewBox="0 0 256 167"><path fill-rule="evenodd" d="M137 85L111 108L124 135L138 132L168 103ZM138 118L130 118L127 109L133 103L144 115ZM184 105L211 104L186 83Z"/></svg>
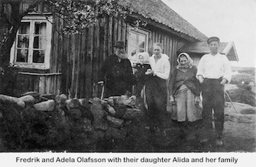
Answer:
<svg viewBox="0 0 256 167"><path fill-rule="evenodd" d="M152 77L146 84L145 95L147 100L149 124L154 127L164 128L167 104L166 80Z"/></svg>

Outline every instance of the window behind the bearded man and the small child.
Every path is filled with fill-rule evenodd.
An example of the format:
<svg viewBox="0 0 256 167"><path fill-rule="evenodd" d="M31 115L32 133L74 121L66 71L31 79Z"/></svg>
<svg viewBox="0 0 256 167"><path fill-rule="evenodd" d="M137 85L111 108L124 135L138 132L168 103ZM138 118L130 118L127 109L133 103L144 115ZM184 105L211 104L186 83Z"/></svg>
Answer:
<svg viewBox="0 0 256 167"><path fill-rule="evenodd" d="M132 30L128 35L128 59L133 63L138 60L137 54L147 51L148 48L147 31L142 29Z"/></svg>

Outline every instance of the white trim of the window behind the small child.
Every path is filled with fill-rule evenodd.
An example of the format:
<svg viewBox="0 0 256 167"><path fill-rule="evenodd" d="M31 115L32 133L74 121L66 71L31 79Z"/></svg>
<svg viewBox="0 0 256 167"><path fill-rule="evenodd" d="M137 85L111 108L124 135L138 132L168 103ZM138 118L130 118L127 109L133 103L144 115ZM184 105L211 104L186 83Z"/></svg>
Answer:
<svg viewBox="0 0 256 167"><path fill-rule="evenodd" d="M146 30L146 29L142 29L142 28L140 28L140 27L137 27L137 28L135 28L135 27L133 27L132 25L129 25L129 32L135 32L135 33L141 33L141 34L144 34L145 36L146 36L146 39L145 39L145 51L147 51L148 52L148 45L149 45L149 31L148 30ZM129 33L128 33L128 37L127 37L127 39L129 40ZM129 43L129 41L128 41L128 43ZM129 53L129 45L127 46L127 51L128 51L128 53ZM139 53L139 50L138 50L138 48L136 49L136 54L135 54L135 56L136 56L136 60L138 59L137 58L137 56L138 56L138 53ZM131 61L131 63L133 63L134 62L134 60L133 59L129 59L130 61Z"/></svg>

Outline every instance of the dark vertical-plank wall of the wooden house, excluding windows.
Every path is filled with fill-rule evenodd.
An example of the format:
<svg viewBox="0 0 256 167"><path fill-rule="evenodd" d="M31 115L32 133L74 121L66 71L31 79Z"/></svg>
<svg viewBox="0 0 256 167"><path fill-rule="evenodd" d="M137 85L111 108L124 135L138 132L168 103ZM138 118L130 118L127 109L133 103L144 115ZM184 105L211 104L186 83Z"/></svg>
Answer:
<svg viewBox="0 0 256 167"><path fill-rule="evenodd" d="M23 5L27 7L27 5ZM99 97L98 73L103 61L113 53L115 41L127 43L129 23L113 18L101 19L98 25L86 29L82 34L62 35L64 21L54 16L52 25L52 49L50 69L44 71L19 69L25 84L22 92L36 91L40 94L67 94L70 98ZM177 51L186 40L170 32L147 25L149 31L149 55L152 45L161 42L164 53L170 57L171 68L176 65ZM23 73L23 72L27 73Z"/></svg>

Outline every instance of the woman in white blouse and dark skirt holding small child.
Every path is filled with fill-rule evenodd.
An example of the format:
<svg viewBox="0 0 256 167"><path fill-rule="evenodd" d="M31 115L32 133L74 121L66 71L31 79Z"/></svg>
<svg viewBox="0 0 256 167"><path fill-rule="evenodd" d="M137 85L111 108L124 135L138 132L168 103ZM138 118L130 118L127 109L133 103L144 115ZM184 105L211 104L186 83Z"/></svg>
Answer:
<svg viewBox="0 0 256 167"><path fill-rule="evenodd" d="M145 95L148 106L148 116L152 130L162 130L163 120L166 118L167 85L166 80L170 74L170 61L162 53L162 43L153 44L153 55L149 57L151 69L145 73L149 75L145 84Z"/></svg>

